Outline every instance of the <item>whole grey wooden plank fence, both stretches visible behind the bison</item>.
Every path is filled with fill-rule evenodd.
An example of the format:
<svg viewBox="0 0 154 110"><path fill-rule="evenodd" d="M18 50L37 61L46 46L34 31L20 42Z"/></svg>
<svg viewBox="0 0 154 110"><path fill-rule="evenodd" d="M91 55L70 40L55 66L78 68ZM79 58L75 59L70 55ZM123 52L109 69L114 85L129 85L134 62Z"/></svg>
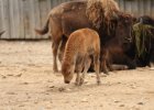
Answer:
<svg viewBox="0 0 154 110"><path fill-rule="evenodd" d="M42 28L50 10L65 1L70 0L0 0L0 31L7 31L1 38L47 38L36 35L34 28ZM154 16L154 0L117 1L125 12Z"/></svg>

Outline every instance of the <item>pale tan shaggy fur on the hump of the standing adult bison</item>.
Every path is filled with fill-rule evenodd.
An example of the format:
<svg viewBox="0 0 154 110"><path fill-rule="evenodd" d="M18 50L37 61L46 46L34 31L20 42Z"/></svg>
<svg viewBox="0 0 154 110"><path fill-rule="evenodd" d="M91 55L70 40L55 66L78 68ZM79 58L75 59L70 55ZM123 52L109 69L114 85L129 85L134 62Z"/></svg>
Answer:
<svg viewBox="0 0 154 110"><path fill-rule="evenodd" d="M118 18L119 6L114 0L88 0L87 16L99 29L101 24Z"/></svg>

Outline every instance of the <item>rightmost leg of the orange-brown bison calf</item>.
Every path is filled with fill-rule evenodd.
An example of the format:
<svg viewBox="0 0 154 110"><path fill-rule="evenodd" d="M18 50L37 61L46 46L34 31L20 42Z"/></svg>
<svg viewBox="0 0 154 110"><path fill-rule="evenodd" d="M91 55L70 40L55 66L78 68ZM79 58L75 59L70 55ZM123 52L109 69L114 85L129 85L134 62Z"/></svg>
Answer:
<svg viewBox="0 0 154 110"><path fill-rule="evenodd" d="M100 67L100 62L99 62L99 54L96 54L94 57L95 61L95 70L97 75L97 84L100 84L100 73L99 73L99 67Z"/></svg>

